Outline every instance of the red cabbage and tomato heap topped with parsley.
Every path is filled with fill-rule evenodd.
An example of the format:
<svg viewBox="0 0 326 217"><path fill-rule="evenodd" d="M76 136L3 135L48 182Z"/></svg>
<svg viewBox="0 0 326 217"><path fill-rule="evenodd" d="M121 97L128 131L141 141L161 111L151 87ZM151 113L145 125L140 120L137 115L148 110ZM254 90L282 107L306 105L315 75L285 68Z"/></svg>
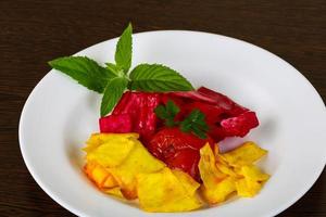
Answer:
<svg viewBox="0 0 326 217"><path fill-rule="evenodd" d="M259 125L254 112L203 87L183 93L127 91L99 123L101 132L139 133L151 154L196 180L200 180L199 150L206 142L213 148L226 137L244 137Z"/></svg>

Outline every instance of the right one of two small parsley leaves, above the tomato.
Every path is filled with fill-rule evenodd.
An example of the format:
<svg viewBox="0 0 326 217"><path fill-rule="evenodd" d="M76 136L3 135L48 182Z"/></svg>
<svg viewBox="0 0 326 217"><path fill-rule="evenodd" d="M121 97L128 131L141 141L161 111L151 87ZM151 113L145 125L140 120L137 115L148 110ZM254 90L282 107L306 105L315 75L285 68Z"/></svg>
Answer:
<svg viewBox="0 0 326 217"><path fill-rule="evenodd" d="M205 123L205 115L199 110L193 110L181 123L180 129L184 132L195 133L201 139L206 138L209 126Z"/></svg>

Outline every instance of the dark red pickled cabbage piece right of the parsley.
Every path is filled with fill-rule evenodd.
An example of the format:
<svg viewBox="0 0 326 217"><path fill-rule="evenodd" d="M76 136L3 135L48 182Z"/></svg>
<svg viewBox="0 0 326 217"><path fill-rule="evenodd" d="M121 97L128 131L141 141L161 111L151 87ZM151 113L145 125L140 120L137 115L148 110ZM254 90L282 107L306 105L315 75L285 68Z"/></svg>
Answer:
<svg viewBox="0 0 326 217"><path fill-rule="evenodd" d="M244 137L250 129L259 125L255 113L205 87L199 88L198 91L171 94L188 101L180 107L178 116L184 117L193 108L199 108L205 114L210 125L209 135L217 142L226 137Z"/></svg>

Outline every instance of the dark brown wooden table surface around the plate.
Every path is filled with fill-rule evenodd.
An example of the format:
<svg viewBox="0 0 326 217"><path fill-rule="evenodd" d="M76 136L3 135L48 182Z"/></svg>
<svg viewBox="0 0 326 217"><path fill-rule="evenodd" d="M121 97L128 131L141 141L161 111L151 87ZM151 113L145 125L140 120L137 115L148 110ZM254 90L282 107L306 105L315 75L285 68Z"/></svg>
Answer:
<svg viewBox="0 0 326 217"><path fill-rule="evenodd" d="M325 0L1 0L0 11L0 216L73 216L29 175L18 146L20 114L49 72L47 61L116 37L129 21L135 31L202 30L263 47L297 67L326 100ZM326 173L279 216L326 216Z"/></svg>

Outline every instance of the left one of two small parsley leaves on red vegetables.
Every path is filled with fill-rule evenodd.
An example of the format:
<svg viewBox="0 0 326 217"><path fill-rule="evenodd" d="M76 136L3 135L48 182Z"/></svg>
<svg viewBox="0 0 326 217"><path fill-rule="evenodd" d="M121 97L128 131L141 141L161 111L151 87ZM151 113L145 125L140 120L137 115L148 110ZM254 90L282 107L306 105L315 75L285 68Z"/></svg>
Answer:
<svg viewBox="0 0 326 217"><path fill-rule="evenodd" d="M180 108L172 100L168 100L165 106L156 106L154 112L159 118L165 120L167 127L177 125L174 118L180 112Z"/></svg>

